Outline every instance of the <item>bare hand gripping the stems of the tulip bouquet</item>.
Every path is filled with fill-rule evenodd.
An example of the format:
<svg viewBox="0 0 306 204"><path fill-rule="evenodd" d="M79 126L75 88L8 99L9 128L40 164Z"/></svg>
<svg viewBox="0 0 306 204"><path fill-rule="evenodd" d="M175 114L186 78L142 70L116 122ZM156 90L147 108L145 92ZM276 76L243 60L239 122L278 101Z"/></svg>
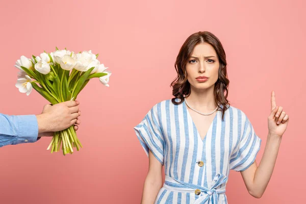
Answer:
<svg viewBox="0 0 306 204"><path fill-rule="evenodd" d="M69 100L53 106L45 105L42 113L36 115L39 136L53 136L53 133L49 132L62 131L73 124L80 124L79 104L77 100ZM74 130L78 130L78 125L74 126Z"/></svg>

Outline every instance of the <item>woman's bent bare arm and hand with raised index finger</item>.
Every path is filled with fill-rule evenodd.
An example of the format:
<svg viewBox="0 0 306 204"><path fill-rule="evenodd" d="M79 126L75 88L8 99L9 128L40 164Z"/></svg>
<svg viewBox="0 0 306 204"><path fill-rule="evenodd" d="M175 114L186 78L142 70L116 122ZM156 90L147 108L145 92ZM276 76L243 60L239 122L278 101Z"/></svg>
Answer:
<svg viewBox="0 0 306 204"><path fill-rule="evenodd" d="M254 162L248 169L241 171L248 192L256 198L260 198L264 194L271 179L279 146L288 122L289 116L285 113L283 107L276 106L275 93L272 91L271 113L268 117L269 133L263 158L259 166Z"/></svg>

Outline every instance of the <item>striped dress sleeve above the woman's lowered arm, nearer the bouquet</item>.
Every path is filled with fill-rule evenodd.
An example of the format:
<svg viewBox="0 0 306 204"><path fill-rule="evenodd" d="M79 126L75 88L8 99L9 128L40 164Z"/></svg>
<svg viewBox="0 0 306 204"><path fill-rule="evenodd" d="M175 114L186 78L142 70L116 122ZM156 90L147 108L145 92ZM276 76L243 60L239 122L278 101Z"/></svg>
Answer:
<svg viewBox="0 0 306 204"><path fill-rule="evenodd" d="M147 157L149 157L150 149L156 159L164 165L165 140L158 121L156 106L134 127L134 131Z"/></svg>

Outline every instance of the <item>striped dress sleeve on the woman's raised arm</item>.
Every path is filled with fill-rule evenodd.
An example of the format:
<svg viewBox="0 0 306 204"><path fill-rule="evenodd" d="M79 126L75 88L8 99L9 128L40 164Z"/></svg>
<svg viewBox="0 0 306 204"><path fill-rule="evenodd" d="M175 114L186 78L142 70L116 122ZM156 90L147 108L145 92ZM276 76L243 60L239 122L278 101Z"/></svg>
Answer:
<svg viewBox="0 0 306 204"><path fill-rule="evenodd" d="M230 169L244 171L252 165L260 150L261 142L261 138L256 135L251 122L245 115L244 130L238 147L231 156Z"/></svg>

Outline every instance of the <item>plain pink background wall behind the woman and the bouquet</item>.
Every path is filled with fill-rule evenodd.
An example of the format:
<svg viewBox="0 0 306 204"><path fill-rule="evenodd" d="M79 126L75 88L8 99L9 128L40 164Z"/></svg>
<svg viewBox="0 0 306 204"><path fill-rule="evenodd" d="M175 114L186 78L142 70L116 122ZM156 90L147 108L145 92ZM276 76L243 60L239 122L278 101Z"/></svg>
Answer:
<svg viewBox="0 0 306 204"><path fill-rule="evenodd" d="M52 4L52 5L51 5ZM15 87L15 61L55 46L91 49L113 72L81 92L84 148L64 157L51 138L0 148L1 203L140 203L148 159L133 127L172 97L174 61L185 39L210 31L222 42L233 107L267 139L270 93L290 116L270 183L261 199L231 171L229 203L300 203L305 172L304 1L8 1L0 3L0 112L39 114L48 102Z"/></svg>

